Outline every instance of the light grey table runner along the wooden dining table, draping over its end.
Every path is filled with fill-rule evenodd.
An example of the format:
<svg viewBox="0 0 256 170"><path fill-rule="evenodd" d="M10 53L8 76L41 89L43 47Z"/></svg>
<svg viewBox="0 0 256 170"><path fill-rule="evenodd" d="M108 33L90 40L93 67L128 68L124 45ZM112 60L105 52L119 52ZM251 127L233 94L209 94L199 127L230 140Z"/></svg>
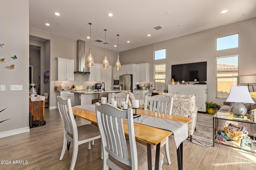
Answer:
<svg viewBox="0 0 256 170"><path fill-rule="evenodd" d="M93 112L96 111L95 105L91 105L91 104L74 106L74 107L78 107L80 109L85 109L85 110L89 110L89 111L93 111ZM180 146L180 144L185 139L188 138L188 127L187 127L186 123L162 119L162 118L158 118L158 117L146 116L146 115L141 115L140 117L136 117L133 119L133 121L135 123L140 123L143 125L156 127L158 129L172 131L177 149Z"/></svg>

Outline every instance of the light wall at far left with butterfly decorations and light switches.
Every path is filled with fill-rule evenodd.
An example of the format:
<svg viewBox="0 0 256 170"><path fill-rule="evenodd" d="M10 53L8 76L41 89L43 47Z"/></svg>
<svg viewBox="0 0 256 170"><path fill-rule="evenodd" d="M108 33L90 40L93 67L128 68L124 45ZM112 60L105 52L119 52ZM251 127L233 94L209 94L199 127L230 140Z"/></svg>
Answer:
<svg viewBox="0 0 256 170"><path fill-rule="evenodd" d="M29 2L28 0L0 0L1 26L0 84L0 137L29 131ZM16 55L17 59L10 57ZM5 68L14 64L14 69ZM10 85L22 85L23 90L10 91ZM15 130L14 130L15 129Z"/></svg>

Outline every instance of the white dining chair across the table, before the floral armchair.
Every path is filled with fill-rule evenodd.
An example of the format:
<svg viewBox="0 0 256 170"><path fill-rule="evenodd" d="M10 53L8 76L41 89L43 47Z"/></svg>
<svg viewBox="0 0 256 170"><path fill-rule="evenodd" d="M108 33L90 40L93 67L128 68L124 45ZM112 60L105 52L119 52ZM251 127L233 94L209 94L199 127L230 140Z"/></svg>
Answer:
<svg viewBox="0 0 256 170"><path fill-rule="evenodd" d="M156 96L145 96L145 104L144 104L144 110L147 110L147 105L149 104L149 111L154 111L158 113L164 113L164 114L171 114L172 113L172 103L173 98L166 98L161 95ZM169 137L165 139L165 141L161 142L160 147L164 146L165 150L165 156L167 163L170 165L170 153L169 153Z"/></svg>

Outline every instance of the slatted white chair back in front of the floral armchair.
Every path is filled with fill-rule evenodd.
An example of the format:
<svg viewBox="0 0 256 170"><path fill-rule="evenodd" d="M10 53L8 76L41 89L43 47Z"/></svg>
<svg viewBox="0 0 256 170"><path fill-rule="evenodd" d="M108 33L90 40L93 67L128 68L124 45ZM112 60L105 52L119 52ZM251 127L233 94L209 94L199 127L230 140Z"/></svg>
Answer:
<svg viewBox="0 0 256 170"><path fill-rule="evenodd" d="M150 102L149 111L154 111L154 112L164 113L164 114L172 113L172 103L173 103L172 97L166 98L161 95L156 95L151 97L145 96L144 110L147 109L148 102Z"/></svg>

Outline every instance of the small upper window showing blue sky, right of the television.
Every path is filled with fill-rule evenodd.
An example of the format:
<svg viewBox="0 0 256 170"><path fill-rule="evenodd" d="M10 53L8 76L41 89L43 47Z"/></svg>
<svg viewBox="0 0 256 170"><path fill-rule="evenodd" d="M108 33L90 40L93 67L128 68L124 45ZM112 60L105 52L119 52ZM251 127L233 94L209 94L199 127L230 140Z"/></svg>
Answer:
<svg viewBox="0 0 256 170"><path fill-rule="evenodd" d="M238 47L238 34L216 38L216 50L233 49Z"/></svg>

